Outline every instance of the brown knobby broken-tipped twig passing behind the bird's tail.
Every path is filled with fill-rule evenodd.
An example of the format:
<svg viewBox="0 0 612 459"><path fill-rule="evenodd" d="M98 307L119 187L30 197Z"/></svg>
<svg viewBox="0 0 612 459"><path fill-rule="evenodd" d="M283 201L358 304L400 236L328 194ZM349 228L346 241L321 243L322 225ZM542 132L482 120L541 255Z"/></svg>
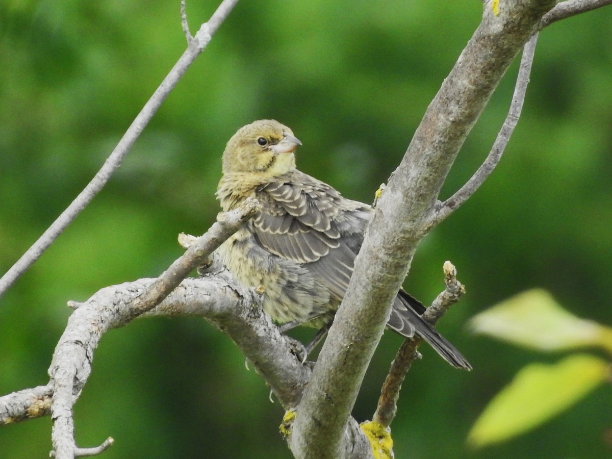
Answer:
<svg viewBox="0 0 612 459"><path fill-rule="evenodd" d="M443 270L446 288L433 300L431 306L423 314L423 318L431 325L435 325L449 309L450 305L458 302L463 293L465 293L465 287L457 280L457 269L455 269L455 266L450 261L446 261ZM391 363L391 368L381 389L378 406L373 417L373 420L383 427L389 427L395 418L401 384L406 378L406 373L408 373L412 361L420 358L417 348L422 342L423 340L420 337L405 340Z"/></svg>

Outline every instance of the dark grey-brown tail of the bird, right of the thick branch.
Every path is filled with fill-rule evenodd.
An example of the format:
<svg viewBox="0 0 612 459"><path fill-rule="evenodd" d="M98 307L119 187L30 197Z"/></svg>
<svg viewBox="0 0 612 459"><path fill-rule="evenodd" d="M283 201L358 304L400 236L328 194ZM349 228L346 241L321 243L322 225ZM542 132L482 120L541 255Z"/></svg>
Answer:
<svg viewBox="0 0 612 459"><path fill-rule="evenodd" d="M471 370L472 365L457 348L421 318L420 315L424 312L425 307L419 300L400 290L395 298L387 326L406 338L411 338L416 333L436 349L442 359L449 362L450 365Z"/></svg>

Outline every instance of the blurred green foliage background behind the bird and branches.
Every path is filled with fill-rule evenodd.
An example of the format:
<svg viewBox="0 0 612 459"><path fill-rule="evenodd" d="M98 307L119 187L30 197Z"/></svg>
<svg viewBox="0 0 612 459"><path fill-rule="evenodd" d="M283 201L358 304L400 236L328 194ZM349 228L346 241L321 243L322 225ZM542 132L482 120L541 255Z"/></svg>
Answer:
<svg viewBox="0 0 612 459"><path fill-rule="evenodd" d="M217 1L188 2L192 31ZM67 300L151 277L180 255L176 235L214 221L225 142L260 118L289 125L302 170L371 202L480 20L480 1L239 2L136 142L111 183L0 299L0 394L47 382ZM420 245L407 288L427 302L442 263L468 294L441 331L469 358L431 349L404 384L396 457L610 454L610 391L479 451L465 439L483 406L540 356L474 337L463 324L542 286L578 316L610 323L612 9L540 34L523 117L498 170ZM179 2L0 3L0 272L102 165L185 48ZM514 65L444 187L490 149ZM354 409L371 419L400 338L386 334ZM105 458L289 458L283 411L228 338L203 320L143 319L106 335L75 405L76 438L116 444ZM0 429L2 457L47 457L50 419Z"/></svg>

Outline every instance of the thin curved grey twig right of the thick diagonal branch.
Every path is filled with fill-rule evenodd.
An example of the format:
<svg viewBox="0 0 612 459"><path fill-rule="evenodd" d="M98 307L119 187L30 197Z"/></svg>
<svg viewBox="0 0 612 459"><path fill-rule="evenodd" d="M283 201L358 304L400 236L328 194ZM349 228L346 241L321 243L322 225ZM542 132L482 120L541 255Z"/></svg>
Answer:
<svg viewBox="0 0 612 459"><path fill-rule="evenodd" d="M521 56L521 64L518 70L517 83L512 96L510 110L504 120L504 124L499 130L498 136L491 147L487 159L480 165L476 173L463 185L454 195L450 196L444 203L439 203L438 209L431 215L428 222L428 228L432 228L442 220L449 217L452 212L457 210L465 201L472 196L476 190L483 184L488 176L491 175L495 167L498 165L501 156L506 149L506 145L510 140L510 136L517 125L518 119L523 110L523 102L527 85L529 83L529 74L531 73L531 64L533 63L535 53L535 43L537 42L537 33L531 37L529 42L523 48L523 56Z"/></svg>

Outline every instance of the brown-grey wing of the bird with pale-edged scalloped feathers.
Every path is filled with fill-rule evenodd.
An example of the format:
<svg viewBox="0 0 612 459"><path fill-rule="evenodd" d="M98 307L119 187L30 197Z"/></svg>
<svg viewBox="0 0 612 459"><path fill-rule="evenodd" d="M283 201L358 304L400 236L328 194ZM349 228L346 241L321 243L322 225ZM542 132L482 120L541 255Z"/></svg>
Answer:
<svg viewBox="0 0 612 459"><path fill-rule="evenodd" d="M259 187L256 196L263 207L252 220L259 243L304 266L340 300L353 274L370 206L346 200L297 171Z"/></svg>

